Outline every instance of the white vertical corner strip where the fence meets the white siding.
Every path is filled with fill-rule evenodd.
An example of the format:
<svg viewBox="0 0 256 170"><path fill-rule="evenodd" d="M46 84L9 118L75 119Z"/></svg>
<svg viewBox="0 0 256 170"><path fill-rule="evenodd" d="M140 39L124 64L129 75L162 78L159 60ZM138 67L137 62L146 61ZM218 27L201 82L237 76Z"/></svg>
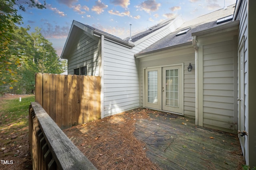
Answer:
<svg viewBox="0 0 256 170"><path fill-rule="evenodd" d="M104 35L100 36L100 118L104 118Z"/></svg>

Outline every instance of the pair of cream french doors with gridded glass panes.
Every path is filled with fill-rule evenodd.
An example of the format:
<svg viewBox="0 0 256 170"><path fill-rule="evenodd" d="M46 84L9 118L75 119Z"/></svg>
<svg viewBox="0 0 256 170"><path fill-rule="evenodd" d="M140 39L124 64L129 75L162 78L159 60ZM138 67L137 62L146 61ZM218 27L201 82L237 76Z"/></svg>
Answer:
<svg viewBox="0 0 256 170"><path fill-rule="evenodd" d="M183 66L145 71L145 107L183 114Z"/></svg>

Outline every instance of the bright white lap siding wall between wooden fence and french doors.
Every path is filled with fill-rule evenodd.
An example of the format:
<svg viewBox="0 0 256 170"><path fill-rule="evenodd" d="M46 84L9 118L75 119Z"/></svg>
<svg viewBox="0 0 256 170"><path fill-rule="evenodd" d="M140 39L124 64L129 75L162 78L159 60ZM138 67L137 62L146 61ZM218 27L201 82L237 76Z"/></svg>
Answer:
<svg viewBox="0 0 256 170"><path fill-rule="evenodd" d="M131 49L104 41L104 117L139 107L137 66Z"/></svg>

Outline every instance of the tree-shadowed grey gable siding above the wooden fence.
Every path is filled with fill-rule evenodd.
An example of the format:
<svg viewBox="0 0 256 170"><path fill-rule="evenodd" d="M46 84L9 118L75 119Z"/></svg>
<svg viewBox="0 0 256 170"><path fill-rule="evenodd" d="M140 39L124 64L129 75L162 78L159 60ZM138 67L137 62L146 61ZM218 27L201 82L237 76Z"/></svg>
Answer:
<svg viewBox="0 0 256 170"><path fill-rule="evenodd" d="M74 68L87 66L87 75L99 75L99 53L98 41L86 34L71 49L72 53L68 58L68 74L74 74Z"/></svg>

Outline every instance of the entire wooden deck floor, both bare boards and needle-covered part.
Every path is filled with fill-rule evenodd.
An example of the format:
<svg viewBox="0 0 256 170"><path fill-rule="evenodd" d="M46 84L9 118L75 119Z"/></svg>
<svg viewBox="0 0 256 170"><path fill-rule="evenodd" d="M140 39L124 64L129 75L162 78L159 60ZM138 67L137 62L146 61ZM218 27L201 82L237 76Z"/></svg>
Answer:
<svg viewBox="0 0 256 170"><path fill-rule="evenodd" d="M129 121L132 123L128 125ZM120 133L119 129L124 129L124 131ZM121 138L122 134L128 133L128 131L131 131L132 137ZM139 108L126 111L86 123L84 126L78 125L66 129L64 133L95 166L100 160L115 157L117 153L110 153L113 148L129 153L130 148L127 147L135 147L136 144L132 141L130 143L133 145L126 144L134 137L137 139L136 141L145 143L143 146L145 146L146 156L154 164L158 164L162 170L238 170L243 163L236 134L197 127L194 119L150 109ZM125 148L120 148L123 145ZM94 150L85 150L88 147L94 148ZM104 153L104 155L97 158L97 154L100 153ZM95 155L92 154L96 154L96 158L93 158ZM117 162L122 162L121 158L123 157L128 160L128 156L125 154L123 157L119 157L116 158ZM135 169L131 165L132 163L128 163L126 168ZM96 168L104 169L101 168L102 166L104 166L104 162ZM105 169L122 168L116 164ZM151 169L154 168L151 167Z"/></svg>

